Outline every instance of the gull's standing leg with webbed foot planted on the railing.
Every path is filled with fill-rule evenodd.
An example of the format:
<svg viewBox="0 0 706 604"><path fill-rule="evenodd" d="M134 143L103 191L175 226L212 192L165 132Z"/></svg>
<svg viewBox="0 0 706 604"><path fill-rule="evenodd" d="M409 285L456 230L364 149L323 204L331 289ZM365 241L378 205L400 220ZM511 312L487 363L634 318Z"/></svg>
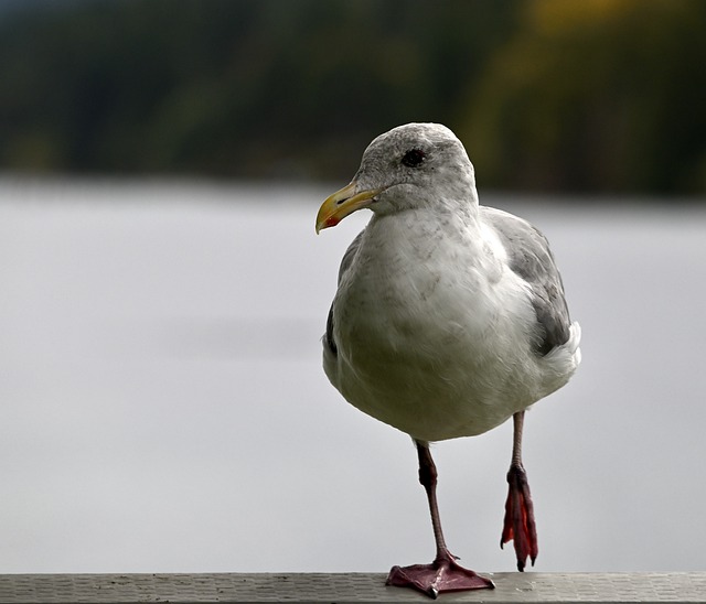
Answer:
<svg viewBox="0 0 706 604"><path fill-rule="evenodd" d="M416 443L419 455L419 482L427 492L429 500L437 556L431 564L393 567L387 576L387 585L414 587L435 598L442 592L494 587L495 585L489 579L458 564L456 557L446 547L437 506L437 468L428 443L420 441Z"/></svg>

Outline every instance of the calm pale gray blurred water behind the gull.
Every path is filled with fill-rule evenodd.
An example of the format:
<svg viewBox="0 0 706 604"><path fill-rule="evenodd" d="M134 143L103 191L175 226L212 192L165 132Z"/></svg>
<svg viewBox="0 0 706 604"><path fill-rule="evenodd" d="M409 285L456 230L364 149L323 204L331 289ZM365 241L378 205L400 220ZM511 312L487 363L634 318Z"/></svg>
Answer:
<svg viewBox="0 0 706 604"><path fill-rule="evenodd" d="M408 438L319 337L331 187L0 182L0 572L386 571L434 552ZM481 192L482 193L482 192ZM517 205L584 364L527 418L542 571L704 570L706 212ZM435 446L451 550L498 547L511 427Z"/></svg>

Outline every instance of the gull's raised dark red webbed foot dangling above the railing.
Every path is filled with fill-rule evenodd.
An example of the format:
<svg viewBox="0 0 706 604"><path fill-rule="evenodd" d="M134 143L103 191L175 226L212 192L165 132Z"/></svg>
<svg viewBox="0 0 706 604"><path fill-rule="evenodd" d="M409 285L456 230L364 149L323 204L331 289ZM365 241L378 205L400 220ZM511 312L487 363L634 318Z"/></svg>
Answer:
<svg viewBox="0 0 706 604"><path fill-rule="evenodd" d="M520 464L512 464L507 472L507 500L505 501L505 521L500 547L512 540L517 556L517 570L525 570L527 557L534 565L539 548L537 529L534 521L534 507L527 474Z"/></svg>

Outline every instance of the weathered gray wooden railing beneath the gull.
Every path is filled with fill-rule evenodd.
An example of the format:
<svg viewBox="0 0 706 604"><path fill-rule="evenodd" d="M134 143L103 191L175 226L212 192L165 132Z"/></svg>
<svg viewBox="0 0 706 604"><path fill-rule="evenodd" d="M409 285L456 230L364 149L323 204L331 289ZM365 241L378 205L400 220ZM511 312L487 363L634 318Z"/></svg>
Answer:
<svg viewBox="0 0 706 604"><path fill-rule="evenodd" d="M494 573L494 590L440 602L706 602L706 572ZM2 574L1 603L429 602L385 586L385 574Z"/></svg>

